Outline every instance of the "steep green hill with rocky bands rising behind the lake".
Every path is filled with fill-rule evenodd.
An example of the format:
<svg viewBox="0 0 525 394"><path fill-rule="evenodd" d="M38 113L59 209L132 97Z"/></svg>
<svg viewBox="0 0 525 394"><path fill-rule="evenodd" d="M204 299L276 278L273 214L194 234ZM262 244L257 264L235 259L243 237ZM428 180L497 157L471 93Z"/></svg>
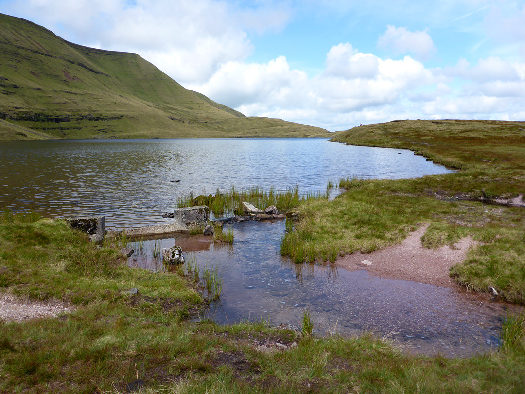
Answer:
<svg viewBox="0 0 525 394"><path fill-rule="evenodd" d="M0 15L0 139L329 137L246 117L185 89L137 54L72 44Z"/></svg>

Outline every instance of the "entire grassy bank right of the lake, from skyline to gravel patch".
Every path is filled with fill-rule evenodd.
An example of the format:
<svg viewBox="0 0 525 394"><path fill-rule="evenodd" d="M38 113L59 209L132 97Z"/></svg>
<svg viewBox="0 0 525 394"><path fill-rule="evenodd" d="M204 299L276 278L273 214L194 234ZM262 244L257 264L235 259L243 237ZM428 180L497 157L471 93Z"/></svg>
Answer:
<svg viewBox="0 0 525 394"><path fill-rule="evenodd" d="M525 301L523 208L489 204L523 202L525 122L407 120L338 132L333 141L411 149L458 171L402 180L339 180L334 201L300 205L301 220L282 240L281 254L297 263L335 261L354 251L370 253L400 243L430 223L426 247L452 245L470 235L477 242L451 268L456 281L478 292L497 289L510 302Z"/></svg>

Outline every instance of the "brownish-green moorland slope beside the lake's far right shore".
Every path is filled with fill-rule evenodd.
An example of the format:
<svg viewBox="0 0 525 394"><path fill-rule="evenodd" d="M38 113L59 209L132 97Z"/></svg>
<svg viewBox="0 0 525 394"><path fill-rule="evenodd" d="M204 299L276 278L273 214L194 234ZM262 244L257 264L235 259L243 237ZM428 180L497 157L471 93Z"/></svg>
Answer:
<svg viewBox="0 0 525 394"><path fill-rule="evenodd" d="M456 174L420 178L431 195L511 198L525 189L525 122L498 120L394 120L339 131L332 141L404 148Z"/></svg>

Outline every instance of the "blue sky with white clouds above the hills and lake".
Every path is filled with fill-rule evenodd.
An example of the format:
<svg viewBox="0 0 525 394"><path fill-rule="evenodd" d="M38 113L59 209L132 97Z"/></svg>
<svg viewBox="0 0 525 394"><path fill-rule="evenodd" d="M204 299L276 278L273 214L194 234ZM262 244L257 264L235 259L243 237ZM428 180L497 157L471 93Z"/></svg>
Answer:
<svg viewBox="0 0 525 394"><path fill-rule="evenodd" d="M247 116L525 120L525 0L0 0Z"/></svg>

